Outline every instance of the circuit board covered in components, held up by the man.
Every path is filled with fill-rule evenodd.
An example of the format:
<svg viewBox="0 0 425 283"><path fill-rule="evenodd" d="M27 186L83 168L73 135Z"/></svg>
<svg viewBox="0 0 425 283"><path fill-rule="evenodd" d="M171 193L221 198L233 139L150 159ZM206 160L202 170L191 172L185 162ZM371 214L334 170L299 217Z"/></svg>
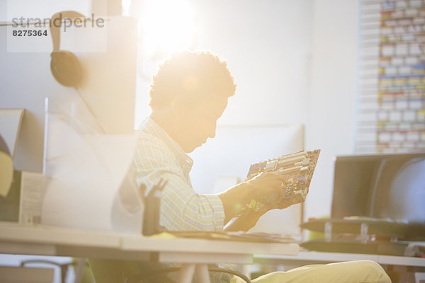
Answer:
<svg viewBox="0 0 425 283"><path fill-rule="evenodd" d="M286 154L276 159L270 159L251 165L246 180L254 178L261 172L285 175L284 201L297 204L305 201L310 182L316 168L320 149L313 151L300 151L295 154ZM248 211L268 210L267 204L251 200Z"/></svg>

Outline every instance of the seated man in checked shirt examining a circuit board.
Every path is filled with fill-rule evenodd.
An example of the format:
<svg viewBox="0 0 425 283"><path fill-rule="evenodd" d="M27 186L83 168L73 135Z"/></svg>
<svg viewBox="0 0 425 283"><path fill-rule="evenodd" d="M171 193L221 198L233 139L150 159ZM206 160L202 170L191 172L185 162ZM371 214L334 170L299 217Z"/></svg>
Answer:
<svg viewBox="0 0 425 283"><path fill-rule="evenodd" d="M273 173L256 176L218 195L198 195L189 173L187 153L215 137L217 119L236 86L227 64L209 52L173 54L154 76L150 89L152 114L138 132L135 171L147 187L168 183L162 191L160 224L169 231L222 230L251 199L283 209L285 178ZM225 162L225 161L223 161ZM261 214L251 214L233 227L247 231ZM220 281L221 280L221 281ZM228 282L225 277L214 282ZM345 262L273 272L254 282L390 282L375 262Z"/></svg>

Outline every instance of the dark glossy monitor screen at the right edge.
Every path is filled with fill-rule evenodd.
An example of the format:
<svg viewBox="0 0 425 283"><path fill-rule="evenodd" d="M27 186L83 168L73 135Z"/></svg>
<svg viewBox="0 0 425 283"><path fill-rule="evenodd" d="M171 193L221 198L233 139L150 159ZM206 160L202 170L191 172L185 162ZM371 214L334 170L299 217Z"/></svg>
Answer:
<svg viewBox="0 0 425 283"><path fill-rule="evenodd" d="M337 156L331 216L425 223L425 152Z"/></svg>

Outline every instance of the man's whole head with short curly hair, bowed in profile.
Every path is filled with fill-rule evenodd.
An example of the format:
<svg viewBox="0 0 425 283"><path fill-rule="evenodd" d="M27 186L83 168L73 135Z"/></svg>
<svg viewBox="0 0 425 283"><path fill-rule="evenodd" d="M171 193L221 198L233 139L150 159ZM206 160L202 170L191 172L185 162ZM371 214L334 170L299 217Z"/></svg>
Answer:
<svg viewBox="0 0 425 283"><path fill-rule="evenodd" d="M163 62L150 88L152 117L186 152L215 137L217 119L236 85L210 52L178 52Z"/></svg>

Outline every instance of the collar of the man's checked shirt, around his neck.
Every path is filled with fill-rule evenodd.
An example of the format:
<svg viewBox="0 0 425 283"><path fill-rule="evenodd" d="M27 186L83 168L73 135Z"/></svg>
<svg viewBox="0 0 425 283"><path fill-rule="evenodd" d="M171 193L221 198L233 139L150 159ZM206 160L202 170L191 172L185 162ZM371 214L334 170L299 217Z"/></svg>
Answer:
<svg viewBox="0 0 425 283"><path fill-rule="evenodd" d="M184 168L185 171L191 171L193 166L193 159L186 154L186 152L181 148L180 144L172 139L169 134L162 129L161 126L157 124L151 117L146 117L145 120L139 126L139 131L145 132L147 134L152 134L155 137L158 137L171 149L171 152L176 156L177 160L180 163L181 168Z"/></svg>

